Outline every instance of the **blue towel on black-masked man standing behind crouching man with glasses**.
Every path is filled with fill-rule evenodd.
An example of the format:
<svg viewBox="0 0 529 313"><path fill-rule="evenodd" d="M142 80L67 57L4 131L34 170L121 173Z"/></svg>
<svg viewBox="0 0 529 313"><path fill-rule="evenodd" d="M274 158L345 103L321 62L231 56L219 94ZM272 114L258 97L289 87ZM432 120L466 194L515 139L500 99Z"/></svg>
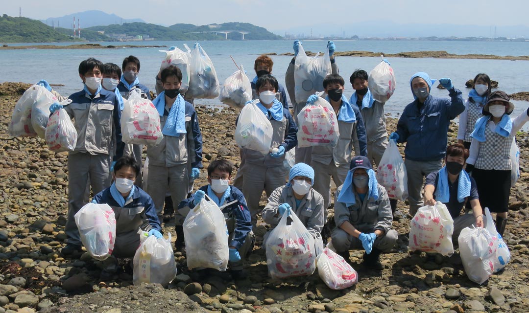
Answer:
<svg viewBox="0 0 529 313"><path fill-rule="evenodd" d="M165 111L165 91L160 92L158 97L152 101L154 107L160 116L163 116ZM163 126L162 134L165 136L178 137L180 134L186 134L186 101L178 94L175 102L171 106L169 116L166 119L165 126Z"/></svg>

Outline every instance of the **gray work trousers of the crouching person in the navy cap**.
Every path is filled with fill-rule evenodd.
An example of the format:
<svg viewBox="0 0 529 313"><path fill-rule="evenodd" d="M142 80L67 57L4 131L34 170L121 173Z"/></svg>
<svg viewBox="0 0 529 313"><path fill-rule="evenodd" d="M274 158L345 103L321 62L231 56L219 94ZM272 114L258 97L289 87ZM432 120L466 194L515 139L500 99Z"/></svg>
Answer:
<svg viewBox="0 0 529 313"><path fill-rule="evenodd" d="M375 232L373 231L371 233ZM389 252L397 243L398 233L391 229L384 235L378 236L373 243L373 248L382 252ZM353 235L348 234L343 229L336 227L331 234L332 245L338 252L349 251L351 249L363 249L362 241Z"/></svg>

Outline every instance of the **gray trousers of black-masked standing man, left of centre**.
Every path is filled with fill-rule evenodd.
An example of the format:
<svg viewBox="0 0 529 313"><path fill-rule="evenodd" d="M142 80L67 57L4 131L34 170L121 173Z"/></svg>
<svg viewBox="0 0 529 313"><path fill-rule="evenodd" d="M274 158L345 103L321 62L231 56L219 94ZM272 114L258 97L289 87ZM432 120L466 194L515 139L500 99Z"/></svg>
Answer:
<svg viewBox="0 0 529 313"><path fill-rule="evenodd" d="M151 196L158 219L163 221L163 204L167 193L167 186L171 193L172 205L175 211L176 224L182 225L185 216L178 213L177 207L187 197L189 189L189 174L187 163L166 167L149 163L149 184L147 193Z"/></svg>

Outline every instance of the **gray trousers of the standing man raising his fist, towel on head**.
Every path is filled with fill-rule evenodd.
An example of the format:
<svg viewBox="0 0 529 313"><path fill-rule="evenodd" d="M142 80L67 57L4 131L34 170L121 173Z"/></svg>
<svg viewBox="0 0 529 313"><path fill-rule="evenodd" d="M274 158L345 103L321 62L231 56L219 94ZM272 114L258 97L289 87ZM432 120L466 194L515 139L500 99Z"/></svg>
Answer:
<svg viewBox="0 0 529 313"><path fill-rule="evenodd" d="M406 165L406 174L408 175L409 214L414 216L419 207L424 206L422 197L424 177L436 170L440 170L443 167L443 163L442 160L413 161L405 159L404 165Z"/></svg>

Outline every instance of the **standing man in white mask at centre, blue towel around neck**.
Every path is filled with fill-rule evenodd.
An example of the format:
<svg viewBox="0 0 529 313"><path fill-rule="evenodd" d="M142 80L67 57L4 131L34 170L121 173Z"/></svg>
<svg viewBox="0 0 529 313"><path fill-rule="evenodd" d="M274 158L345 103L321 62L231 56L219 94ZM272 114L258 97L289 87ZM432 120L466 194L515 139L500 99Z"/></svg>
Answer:
<svg viewBox="0 0 529 313"><path fill-rule="evenodd" d="M257 79L256 88L259 101L253 100L253 103L272 125L270 153L263 155L261 151L242 147L241 164L244 166L240 170L242 170L241 182L244 187L235 185L242 189L248 201L254 232L256 232L262 192L265 191L266 195L270 196L277 187L285 184L286 170L283 161L286 151L293 149L297 144L298 130L290 111L276 99L277 79L272 75L261 75Z"/></svg>

